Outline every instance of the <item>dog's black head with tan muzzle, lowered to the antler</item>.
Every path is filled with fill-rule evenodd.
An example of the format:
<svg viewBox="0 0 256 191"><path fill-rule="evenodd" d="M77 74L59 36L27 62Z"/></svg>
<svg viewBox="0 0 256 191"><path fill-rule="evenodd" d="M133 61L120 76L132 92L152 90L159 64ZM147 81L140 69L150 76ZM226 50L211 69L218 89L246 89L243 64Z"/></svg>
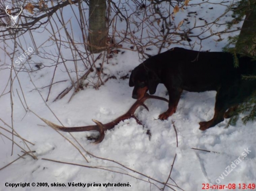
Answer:
<svg viewBox="0 0 256 191"><path fill-rule="evenodd" d="M132 98L140 100L149 90L150 94L155 94L156 87L160 83L155 71L147 68L144 63L132 70L129 86L134 87Z"/></svg>

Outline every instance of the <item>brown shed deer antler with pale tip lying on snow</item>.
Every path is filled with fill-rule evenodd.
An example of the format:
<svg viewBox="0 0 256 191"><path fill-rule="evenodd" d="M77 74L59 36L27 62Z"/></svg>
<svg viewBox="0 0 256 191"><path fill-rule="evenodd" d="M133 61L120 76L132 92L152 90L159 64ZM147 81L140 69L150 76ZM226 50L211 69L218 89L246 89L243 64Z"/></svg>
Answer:
<svg viewBox="0 0 256 191"><path fill-rule="evenodd" d="M132 107L128 110L127 113L125 113L124 115L121 115L120 117L116 118L115 120L106 123L106 124L102 124L100 121L96 121L93 119L94 123L96 123L96 125L89 125L89 126L83 126L83 127L62 127L62 126L58 126L56 124L54 124L51 121L47 121L46 119L42 119L48 126L53 127L56 130L59 131L64 131L64 132L81 132L81 131L99 131L100 136L93 142L94 144L98 144L100 143L105 136L105 131L112 129L113 127L115 127L115 125L117 125L120 121L129 119L129 118L134 118L138 124L142 125L141 121L139 121L135 115L134 112L135 110L140 107L143 106L144 108L146 108L148 110L148 107L144 104L144 102L148 99L158 99L158 100L162 100L165 102L168 102L167 99L163 98L163 97L159 97L159 96L150 96L148 94L146 94L144 97L142 97L140 100L137 100Z"/></svg>

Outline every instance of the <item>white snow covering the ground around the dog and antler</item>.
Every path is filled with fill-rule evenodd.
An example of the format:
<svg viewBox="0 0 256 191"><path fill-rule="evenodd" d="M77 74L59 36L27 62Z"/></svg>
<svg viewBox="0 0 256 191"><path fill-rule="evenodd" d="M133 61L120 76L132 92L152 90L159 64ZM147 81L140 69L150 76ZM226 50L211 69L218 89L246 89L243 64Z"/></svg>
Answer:
<svg viewBox="0 0 256 191"><path fill-rule="evenodd" d="M185 13L180 11L175 15L176 25L184 19L184 15L187 15L189 11L197 11L199 14L197 18L202 17L208 22L216 19L215 10L218 10L219 13L224 11L223 6L218 4L207 4L199 0L193 1L194 3L202 3L200 6L202 11L198 11L198 6L191 6L188 10L184 10ZM210 7L214 7L213 12L209 9ZM231 13L222 19L230 20L230 15ZM69 19L68 15L66 17ZM200 20L200 22L203 21ZM121 27L125 27L125 25L122 23ZM216 27L213 32L223 30L223 28L223 25L219 28ZM200 30L197 29L194 32L200 33ZM38 45L43 44L48 38L40 33L34 32L33 34L38 38L38 42L36 42ZM145 32L143 35L147 35L147 33ZM202 41L201 50L222 51L229 35L222 35L224 40L220 42L216 41L217 36ZM25 43L24 39L22 41ZM12 44L12 42L8 43ZM123 47L129 46L129 44L123 44ZM186 43L171 45L171 47L174 46L188 48ZM157 53L157 48L153 46L151 48L152 50L147 51L148 54ZM200 48L200 45L196 45L194 50L200 50ZM57 51L54 45L45 46L45 50L48 52ZM71 57L67 49L63 48L61 51L63 55ZM13 121L11 120L11 98L8 93L10 90L8 82L10 70L0 70L0 92L2 93L0 96L2 108L0 110L0 127L11 131L7 125L11 126L13 122L15 131L22 138L34 144L27 143L31 151L35 151L34 155L37 157L37 159L33 159L26 155L1 169L23 154L21 148L26 151L28 149L24 140L14 137L14 141L21 148L14 145L13 154L11 154L12 142L3 135L10 139L12 139L12 135L0 128L0 191L157 191L164 187L173 163L168 186L176 191L199 191L203 188L202 184L217 185L217 179L220 180L219 185L236 184L236 189L233 190L239 190L239 184L255 184L256 139L254 130L256 122L243 125L240 120L236 126L224 129L227 124L227 120L225 120L207 131L198 129L198 122L208 121L214 114L216 96L214 91L203 93L184 91L176 113L166 121L160 121L157 118L158 115L167 110L168 104L160 100L149 99L145 102L149 111L140 107L135 113L144 127L137 124L132 118L122 121L113 129L108 130L104 140L98 145L91 144L91 140L87 139L87 136L96 135L95 132L71 134L61 132L78 147L88 162L67 139L40 120L38 116L58 125L62 123L65 127L79 127L94 125L92 119L104 124L124 114L135 100L131 98L133 88L128 86L128 79L121 79L121 77L130 74L130 71L140 64L142 59L136 51L126 49L121 49L121 51L124 53L114 54L113 58L108 59L109 64L104 63L103 67L104 73L110 76L115 75L117 79L109 79L98 90L95 90L90 84L92 81L95 83L96 78L90 76L92 81L85 82L88 83L88 87L77 92L70 101L69 98L74 89L62 99L53 102L61 91L70 86L70 79L63 64L58 66L54 82L66 81L53 85L47 102L45 100L49 89L42 87L49 85L54 67L46 67L29 73L19 72L13 80L12 88ZM22 52L20 51L20 53ZM1 50L0 55L3 57L4 54L5 52ZM95 54L94 58L97 56L98 54ZM32 59L35 62L51 65L36 55ZM55 58L53 57L53 59ZM102 59L103 57L96 64L101 63ZM74 70L74 64L70 61L67 61L67 67ZM79 75L83 75L84 65L82 62L78 63L78 69L80 70ZM11 75L14 78L14 71ZM72 79L76 79L74 72L71 73L71 76ZM166 89L161 84L155 95L168 99ZM26 112L24 107L29 108L29 110ZM148 130L151 133L150 138L147 134ZM178 147L175 130L177 131ZM242 159L244 149L249 149L250 152ZM231 168L232 162L239 157L242 159L241 163L235 168ZM230 166L232 172L225 176L223 172L227 174L225 172L227 166ZM6 183L30 183L30 186L11 188L6 186ZM47 183L49 187L33 187L32 183ZM66 186L54 187L50 185L54 183L65 184ZM68 186L68 183L87 185L85 188L72 187ZM101 186L94 186L94 183L101 184ZM130 186L104 187L103 183L122 183ZM88 187L88 184L92 185ZM165 191L171 190L169 187L165 187ZM223 190L231 189L225 188Z"/></svg>

